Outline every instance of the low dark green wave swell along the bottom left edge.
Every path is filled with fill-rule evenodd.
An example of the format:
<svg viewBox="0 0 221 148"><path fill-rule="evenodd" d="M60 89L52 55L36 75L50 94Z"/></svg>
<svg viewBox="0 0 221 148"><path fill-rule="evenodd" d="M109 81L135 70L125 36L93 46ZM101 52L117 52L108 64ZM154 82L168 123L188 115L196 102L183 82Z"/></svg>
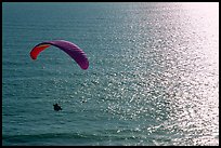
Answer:
<svg viewBox="0 0 221 148"><path fill-rule="evenodd" d="M2 135L3 145L100 145L109 138L106 134L87 133Z"/></svg>

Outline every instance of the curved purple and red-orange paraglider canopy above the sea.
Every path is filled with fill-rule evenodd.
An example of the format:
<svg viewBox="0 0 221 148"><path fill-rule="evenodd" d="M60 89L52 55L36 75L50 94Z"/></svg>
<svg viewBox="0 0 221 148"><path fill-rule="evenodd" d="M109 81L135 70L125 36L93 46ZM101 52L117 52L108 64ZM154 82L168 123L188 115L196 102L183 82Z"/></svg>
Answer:
<svg viewBox="0 0 221 148"><path fill-rule="evenodd" d="M60 50L67 53L75 62L80 66L81 69L88 69L89 60L86 53L78 48L76 44L65 41L65 40L54 40L54 41L46 41L37 44L30 51L30 57L32 59L37 59L38 55L46 50L47 48L54 45Z"/></svg>

